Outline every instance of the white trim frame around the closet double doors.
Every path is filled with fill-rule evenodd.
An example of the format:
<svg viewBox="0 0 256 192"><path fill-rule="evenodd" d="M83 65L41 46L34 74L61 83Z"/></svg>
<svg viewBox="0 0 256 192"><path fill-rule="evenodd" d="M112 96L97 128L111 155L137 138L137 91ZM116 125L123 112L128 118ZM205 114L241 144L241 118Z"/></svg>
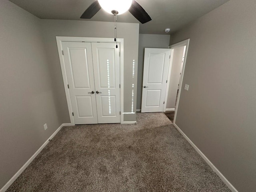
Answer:
<svg viewBox="0 0 256 192"><path fill-rule="evenodd" d="M120 48L120 122L121 124L124 123L124 39L118 38L119 48ZM63 84L64 89L66 93L66 100L68 104L68 113L70 117L70 123L71 125L75 125L74 116L72 115L72 104L71 104L71 98L70 93L68 90L68 78L66 74L66 68L64 64L64 56L62 55L62 42L114 42L113 38L95 38L95 37L62 37L62 36L56 36L56 42L58 47L58 53L60 58L60 67L62 71L62 78L63 78Z"/></svg>

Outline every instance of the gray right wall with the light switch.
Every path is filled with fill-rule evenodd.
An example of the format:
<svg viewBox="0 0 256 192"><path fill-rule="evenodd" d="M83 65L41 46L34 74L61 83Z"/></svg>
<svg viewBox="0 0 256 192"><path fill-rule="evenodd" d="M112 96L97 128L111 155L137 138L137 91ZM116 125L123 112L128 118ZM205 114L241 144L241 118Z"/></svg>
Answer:
<svg viewBox="0 0 256 192"><path fill-rule="evenodd" d="M190 38L176 124L240 192L256 190L255 10L230 0L170 41Z"/></svg>

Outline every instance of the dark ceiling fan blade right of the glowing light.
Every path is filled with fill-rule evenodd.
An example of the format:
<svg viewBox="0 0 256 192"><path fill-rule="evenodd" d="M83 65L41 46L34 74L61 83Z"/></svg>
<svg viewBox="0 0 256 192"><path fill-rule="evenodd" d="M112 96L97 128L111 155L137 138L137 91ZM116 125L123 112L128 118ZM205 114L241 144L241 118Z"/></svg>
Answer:
<svg viewBox="0 0 256 192"><path fill-rule="evenodd" d="M132 5L129 8L129 12L142 24L152 20L148 13L136 0L132 0Z"/></svg>

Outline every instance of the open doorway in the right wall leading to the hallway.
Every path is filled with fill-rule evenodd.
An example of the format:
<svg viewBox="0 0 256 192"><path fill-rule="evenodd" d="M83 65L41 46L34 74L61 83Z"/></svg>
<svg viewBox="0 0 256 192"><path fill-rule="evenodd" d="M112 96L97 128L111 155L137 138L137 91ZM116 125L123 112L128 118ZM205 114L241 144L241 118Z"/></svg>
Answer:
<svg viewBox="0 0 256 192"><path fill-rule="evenodd" d="M189 40L185 40L170 46L172 53L169 66L169 82L166 90L167 94L164 113L172 122L175 120L175 114L178 109L178 100L182 87L188 42Z"/></svg>

